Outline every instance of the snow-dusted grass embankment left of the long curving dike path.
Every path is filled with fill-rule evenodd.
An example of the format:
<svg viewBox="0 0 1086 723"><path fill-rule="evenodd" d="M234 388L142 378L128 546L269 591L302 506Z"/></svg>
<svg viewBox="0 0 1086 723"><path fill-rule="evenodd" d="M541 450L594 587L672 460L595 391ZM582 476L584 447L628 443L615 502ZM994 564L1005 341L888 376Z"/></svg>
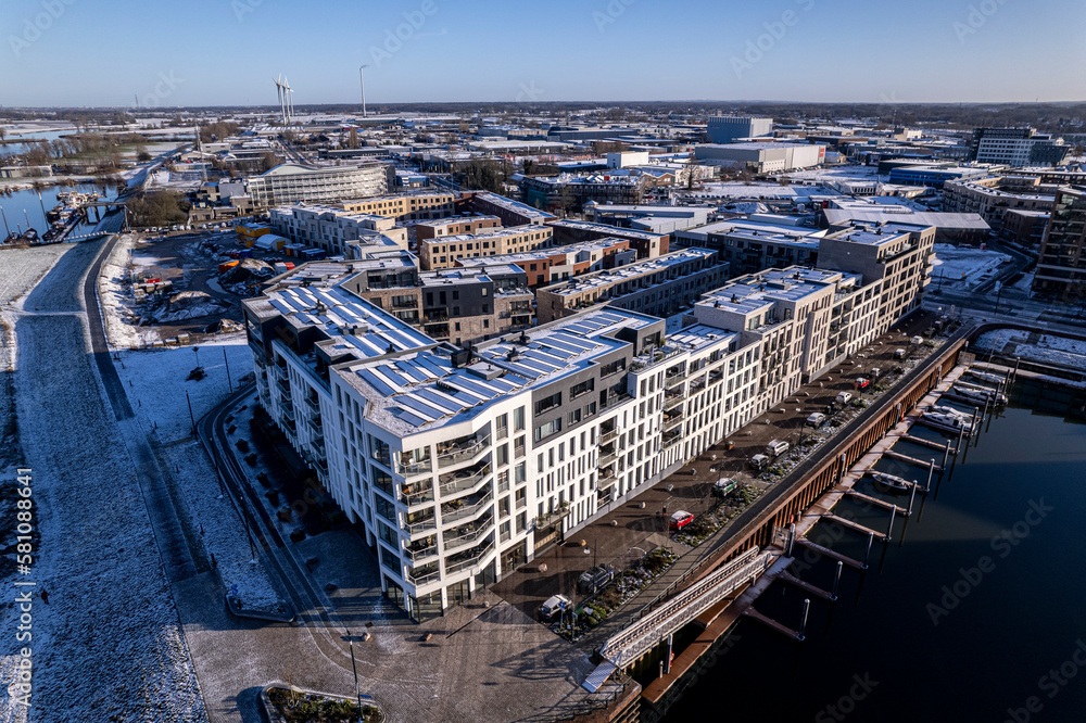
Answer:
<svg viewBox="0 0 1086 723"><path fill-rule="evenodd" d="M31 718L202 721L203 702L132 461L86 348L76 289L100 243L53 249L63 252L54 270L3 314L17 342L18 443L23 464L34 470L40 538L33 579L38 592L49 594L48 605L40 597L33 601ZM5 261L22 268L36 263L20 255L4 252ZM22 283L35 276L21 272ZM26 291L12 282L7 293ZM10 587L10 579L3 582ZM15 630L14 607L0 614L4 629ZM0 648L5 683L12 681L13 645ZM25 710L7 696L0 721L23 720Z"/></svg>

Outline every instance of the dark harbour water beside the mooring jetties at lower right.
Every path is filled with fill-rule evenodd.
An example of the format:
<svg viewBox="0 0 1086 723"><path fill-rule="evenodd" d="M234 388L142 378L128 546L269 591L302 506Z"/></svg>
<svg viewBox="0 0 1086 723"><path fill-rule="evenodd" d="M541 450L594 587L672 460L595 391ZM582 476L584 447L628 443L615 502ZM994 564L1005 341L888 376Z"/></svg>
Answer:
<svg viewBox="0 0 1086 723"><path fill-rule="evenodd" d="M1066 408L1083 397L1034 382L1014 392L893 541L875 543L870 569L846 567L836 602L811 599L805 642L742 620L666 720L1084 720L1086 424ZM888 513L854 500L837 512L887 528ZM820 523L809 536L820 535L864 556L855 532ZM832 587L835 563L798 558L797 576ZM776 582L755 608L795 629L805 597Z"/></svg>

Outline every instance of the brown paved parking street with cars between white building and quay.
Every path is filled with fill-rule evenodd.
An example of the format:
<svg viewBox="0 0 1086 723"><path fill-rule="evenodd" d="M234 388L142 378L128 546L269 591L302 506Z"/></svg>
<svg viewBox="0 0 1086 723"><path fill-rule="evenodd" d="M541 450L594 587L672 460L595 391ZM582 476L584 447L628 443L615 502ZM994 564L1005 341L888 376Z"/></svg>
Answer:
<svg viewBox="0 0 1086 723"><path fill-rule="evenodd" d="M813 431L804 424L807 417L815 411L826 413L838 392L850 392L854 398L870 397L874 385L857 390L856 377L869 376L874 367L885 375L901 364L895 358L897 348L917 356L930 352L926 347L913 346L910 340L929 329L934 320L933 314L914 315L901 327L860 350L854 360L846 360L818 380L800 386L796 395L721 440L669 478L592 524L567 534L564 544L543 550L533 561L494 585L493 591L525 612L534 614L535 608L555 594L568 596L574 605L585 599L588 596L577 589L577 579L594 565L608 562L621 571L646 551L660 546L682 554L689 547L672 538L667 524L670 515L685 510L700 516L710 510L718 502L712 495L712 485L722 477L734 478L757 490L770 486L771 483L758 479L749 459L765 453L766 446L774 440L788 442L794 448L800 435L807 437ZM833 421L831 416L824 430ZM732 443L730 449L729 443ZM545 570L541 570L543 566Z"/></svg>

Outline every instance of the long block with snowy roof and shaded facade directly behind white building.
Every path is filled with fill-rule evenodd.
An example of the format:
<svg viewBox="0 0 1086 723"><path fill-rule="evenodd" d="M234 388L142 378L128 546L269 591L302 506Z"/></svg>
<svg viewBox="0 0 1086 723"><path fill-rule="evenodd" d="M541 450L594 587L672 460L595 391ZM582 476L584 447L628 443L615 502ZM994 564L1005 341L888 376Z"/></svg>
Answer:
<svg viewBox="0 0 1086 723"><path fill-rule="evenodd" d="M596 271L535 291L541 324L609 304L667 317L690 306L729 278L728 266L707 249L684 249L648 261Z"/></svg>

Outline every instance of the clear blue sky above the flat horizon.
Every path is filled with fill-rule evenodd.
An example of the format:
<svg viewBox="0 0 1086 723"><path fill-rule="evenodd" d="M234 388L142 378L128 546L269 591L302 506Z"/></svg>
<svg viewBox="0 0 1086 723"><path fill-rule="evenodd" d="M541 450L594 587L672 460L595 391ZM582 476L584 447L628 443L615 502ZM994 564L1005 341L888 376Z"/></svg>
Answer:
<svg viewBox="0 0 1086 723"><path fill-rule="evenodd" d="M280 73L357 102L363 63L371 105L1086 99L1082 0L7 0L0 29L3 105L273 105Z"/></svg>

